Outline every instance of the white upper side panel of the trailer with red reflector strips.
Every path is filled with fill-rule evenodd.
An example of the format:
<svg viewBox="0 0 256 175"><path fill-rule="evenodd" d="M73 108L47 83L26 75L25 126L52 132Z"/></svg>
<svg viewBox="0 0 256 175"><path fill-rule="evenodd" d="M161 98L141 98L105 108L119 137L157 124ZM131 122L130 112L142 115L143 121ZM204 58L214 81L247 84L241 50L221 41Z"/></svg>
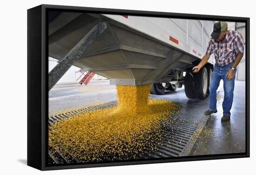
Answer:
<svg viewBox="0 0 256 175"><path fill-rule="evenodd" d="M125 18L122 15L103 15L200 59L205 54L214 25L214 21L206 20L141 16L128 16L128 18ZM204 32L207 34L203 34ZM171 41L169 36L178 40L179 43ZM211 56L208 62L214 64L214 57Z"/></svg>

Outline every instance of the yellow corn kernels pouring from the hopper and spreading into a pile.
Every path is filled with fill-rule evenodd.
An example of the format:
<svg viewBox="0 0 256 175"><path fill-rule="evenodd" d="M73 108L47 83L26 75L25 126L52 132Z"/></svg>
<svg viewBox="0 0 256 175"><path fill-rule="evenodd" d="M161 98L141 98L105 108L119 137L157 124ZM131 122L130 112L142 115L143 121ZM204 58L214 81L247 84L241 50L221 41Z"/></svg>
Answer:
<svg viewBox="0 0 256 175"><path fill-rule="evenodd" d="M150 85L117 85L117 106L97 109L49 126L48 143L81 162L134 159L142 149L161 144L160 123L179 111L172 101L149 99ZM152 143L155 144L152 144Z"/></svg>

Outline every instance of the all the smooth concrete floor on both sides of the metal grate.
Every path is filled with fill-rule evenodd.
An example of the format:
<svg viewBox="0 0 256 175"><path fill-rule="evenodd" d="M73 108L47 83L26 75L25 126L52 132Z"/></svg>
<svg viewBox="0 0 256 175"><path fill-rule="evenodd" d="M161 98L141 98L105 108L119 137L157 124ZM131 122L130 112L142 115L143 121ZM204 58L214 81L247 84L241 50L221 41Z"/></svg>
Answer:
<svg viewBox="0 0 256 175"><path fill-rule="evenodd" d="M224 97L222 81L217 94L218 113L209 117L189 155L245 152L245 81L235 82L234 101L229 122L221 122ZM191 104L191 108L200 105L202 113L209 106L209 97L203 101L188 99L184 88L177 88L173 92L166 91L164 95L150 94L150 97ZM49 92L49 113L115 100L115 85L109 85L108 80L90 81L87 86L84 84L57 85Z"/></svg>

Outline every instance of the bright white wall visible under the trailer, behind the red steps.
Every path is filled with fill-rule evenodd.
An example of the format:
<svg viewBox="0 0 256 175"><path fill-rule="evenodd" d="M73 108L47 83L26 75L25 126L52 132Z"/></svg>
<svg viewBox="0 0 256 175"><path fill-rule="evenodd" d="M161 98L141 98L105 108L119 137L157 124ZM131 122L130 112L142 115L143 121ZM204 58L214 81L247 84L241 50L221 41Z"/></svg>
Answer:
<svg viewBox="0 0 256 175"><path fill-rule="evenodd" d="M50 72L58 63L58 60L48 57L48 72ZM71 66L66 74L64 74L61 79L56 83L57 84L68 84L68 83L79 83L84 75L81 74L81 72L78 72L80 70L79 67ZM82 76L81 76L82 75ZM79 78L81 76L81 78ZM105 77L102 77L101 75L95 74L93 77L93 80L101 80L106 79Z"/></svg>

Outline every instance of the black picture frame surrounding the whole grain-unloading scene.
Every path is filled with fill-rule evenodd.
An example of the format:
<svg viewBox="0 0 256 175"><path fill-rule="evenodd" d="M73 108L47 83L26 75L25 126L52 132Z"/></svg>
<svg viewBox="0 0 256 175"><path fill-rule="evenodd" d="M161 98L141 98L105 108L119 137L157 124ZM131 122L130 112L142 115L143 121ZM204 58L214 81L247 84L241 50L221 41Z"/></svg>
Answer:
<svg viewBox="0 0 256 175"><path fill-rule="evenodd" d="M98 162L92 164L47 165L47 120L48 120L48 63L47 63L47 10L88 13L127 14L180 19L224 20L246 24L246 152L225 155L200 155L157 160L134 160L123 162ZM27 165L40 170L89 168L119 165L135 165L163 162L184 162L212 159L249 157L249 28L250 19L244 17L216 16L186 13L166 13L93 7L40 5L27 10Z"/></svg>

